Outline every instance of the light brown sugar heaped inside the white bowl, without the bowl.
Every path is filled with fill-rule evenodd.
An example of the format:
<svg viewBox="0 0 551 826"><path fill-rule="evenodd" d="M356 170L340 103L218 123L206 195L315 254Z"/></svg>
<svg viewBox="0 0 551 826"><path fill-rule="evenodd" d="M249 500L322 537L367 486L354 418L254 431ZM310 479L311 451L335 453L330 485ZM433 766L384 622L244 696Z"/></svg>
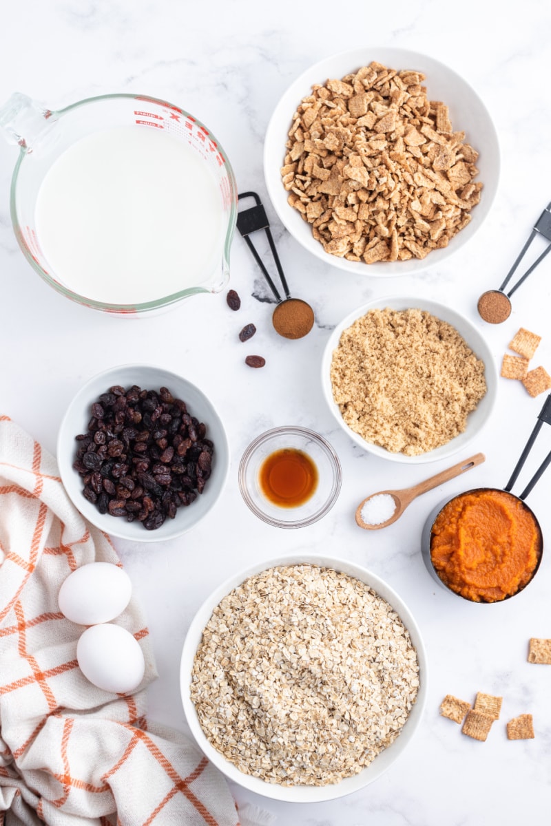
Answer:
<svg viewBox="0 0 551 826"><path fill-rule="evenodd" d="M458 330L429 312L370 310L333 352L335 404L354 433L418 456L463 433L487 392L484 363Z"/></svg>

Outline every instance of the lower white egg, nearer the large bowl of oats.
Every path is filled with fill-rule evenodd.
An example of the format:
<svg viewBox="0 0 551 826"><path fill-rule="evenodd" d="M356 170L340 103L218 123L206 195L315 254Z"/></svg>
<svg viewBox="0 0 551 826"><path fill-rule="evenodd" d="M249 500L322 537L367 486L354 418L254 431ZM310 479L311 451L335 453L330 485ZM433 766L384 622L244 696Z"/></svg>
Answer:
<svg viewBox="0 0 551 826"><path fill-rule="evenodd" d="M139 643L120 625L92 625L80 635L77 660L94 686L114 694L127 694L140 685L145 671Z"/></svg>

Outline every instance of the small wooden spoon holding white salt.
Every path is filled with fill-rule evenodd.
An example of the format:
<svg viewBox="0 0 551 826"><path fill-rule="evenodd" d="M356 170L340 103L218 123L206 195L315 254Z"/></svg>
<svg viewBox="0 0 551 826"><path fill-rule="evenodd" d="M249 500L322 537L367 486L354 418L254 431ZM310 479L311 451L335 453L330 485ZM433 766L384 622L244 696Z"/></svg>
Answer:
<svg viewBox="0 0 551 826"><path fill-rule="evenodd" d="M372 493L370 496L360 502L356 509L356 522L360 528L366 530L378 530L379 528L386 528L387 525L392 525L403 514L406 507L422 493L431 491L434 487L442 485L444 482L449 482L456 476L460 476L471 468L482 464L486 457L483 453L476 453L471 458L465 459L454 465L453 468L448 468L425 482L419 482L413 487L406 487L402 491L380 491Z"/></svg>

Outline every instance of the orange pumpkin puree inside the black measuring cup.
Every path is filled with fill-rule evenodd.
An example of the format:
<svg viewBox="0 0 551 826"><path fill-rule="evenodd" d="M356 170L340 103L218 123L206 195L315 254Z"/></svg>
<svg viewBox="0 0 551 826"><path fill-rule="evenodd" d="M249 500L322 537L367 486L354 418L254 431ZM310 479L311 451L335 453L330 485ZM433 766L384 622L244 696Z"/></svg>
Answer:
<svg viewBox="0 0 551 826"><path fill-rule="evenodd" d="M430 558L452 591L474 602L496 602L530 582L542 539L534 516L506 491L456 496L439 512Z"/></svg>

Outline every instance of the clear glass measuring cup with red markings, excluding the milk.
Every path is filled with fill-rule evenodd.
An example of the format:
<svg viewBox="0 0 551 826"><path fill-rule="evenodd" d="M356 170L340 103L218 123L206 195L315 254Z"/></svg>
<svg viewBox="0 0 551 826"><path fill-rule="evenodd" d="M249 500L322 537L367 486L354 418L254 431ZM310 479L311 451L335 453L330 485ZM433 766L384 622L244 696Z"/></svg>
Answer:
<svg viewBox="0 0 551 826"><path fill-rule="evenodd" d="M180 271L186 273L185 280L182 278L185 286L132 303L97 300L75 292L46 257L36 227L40 187L55 161L79 140L120 127L162 130L181 142L186 150L191 148L193 158L206 165L216 182L216 208L221 226L219 244L216 244L219 249L213 252L215 263L212 266L197 273L186 273L186 249L182 249L174 268L177 274ZM230 244L237 218L237 187L226 152L196 117L172 103L143 95L89 97L55 112L40 107L26 95L15 93L0 108L0 131L7 140L20 147L10 198L17 242L32 268L57 292L95 310L136 316L157 311L198 292L220 292L226 285L230 276ZM59 232L63 231L64 227L60 226ZM135 239L136 244L140 241ZM155 278L155 273L151 273L151 278Z"/></svg>

